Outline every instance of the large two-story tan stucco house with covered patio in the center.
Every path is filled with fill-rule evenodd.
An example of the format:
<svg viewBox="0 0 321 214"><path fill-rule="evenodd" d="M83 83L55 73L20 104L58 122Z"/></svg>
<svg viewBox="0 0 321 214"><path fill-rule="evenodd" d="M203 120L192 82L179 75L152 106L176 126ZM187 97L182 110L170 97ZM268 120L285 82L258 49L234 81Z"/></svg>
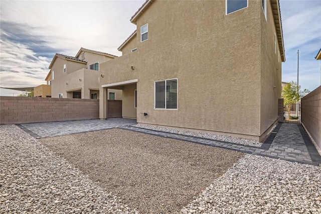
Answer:
<svg viewBox="0 0 321 214"><path fill-rule="evenodd" d="M122 56L100 66L101 119L113 88L137 123L262 140L277 122L278 1L147 0L130 21Z"/></svg>

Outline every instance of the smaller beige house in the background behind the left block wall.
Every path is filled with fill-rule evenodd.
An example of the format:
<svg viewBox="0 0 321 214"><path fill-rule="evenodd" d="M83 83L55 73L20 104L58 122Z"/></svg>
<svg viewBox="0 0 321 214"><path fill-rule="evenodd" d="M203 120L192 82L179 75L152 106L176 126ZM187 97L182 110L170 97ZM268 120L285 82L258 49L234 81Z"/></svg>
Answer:
<svg viewBox="0 0 321 214"><path fill-rule="evenodd" d="M100 64L117 56L80 48L77 55L56 54L49 65L51 96L59 98L99 98ZM50 82L50 83L49 83ZM108 99L121 99L121 90L109 90Z"/></svg>

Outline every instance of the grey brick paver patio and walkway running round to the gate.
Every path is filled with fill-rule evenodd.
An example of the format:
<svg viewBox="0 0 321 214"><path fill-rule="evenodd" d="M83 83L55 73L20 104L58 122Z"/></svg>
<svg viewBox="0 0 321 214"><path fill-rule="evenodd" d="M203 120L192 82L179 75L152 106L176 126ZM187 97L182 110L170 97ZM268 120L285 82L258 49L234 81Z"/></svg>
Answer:
<svg viewBox="0 0 321 214"><path fill-rule="evenodd" d="M266 156L270 158L282 159L291 162L298 162L311 165L321 164L321 156L316 151L314 145L312 144L305 130L300 124L278 124L278 126L271 133L271 135L264 142L264 144L262 144L261 147L244 146L241 144L229 143L212 139L153 131L138 127L132 127L131 125L133 124L136 124L135 120L108 119L106 121L69 121L23 124L19 126L25 131L29 132L34 137L53 137L73 133L120 128L134 132L141 132L150 135L189 141L197 144L219 147L254 155Z"/></svg>

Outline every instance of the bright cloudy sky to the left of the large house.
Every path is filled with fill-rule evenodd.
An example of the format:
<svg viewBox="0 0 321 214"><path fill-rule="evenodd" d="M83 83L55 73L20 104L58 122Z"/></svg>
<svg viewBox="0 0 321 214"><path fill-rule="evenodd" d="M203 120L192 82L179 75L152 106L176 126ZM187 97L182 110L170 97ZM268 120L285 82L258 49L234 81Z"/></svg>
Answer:
<svg viewBox="0 0 321 214"><path fill-rule="evenodd" d="M74 56L84 47L120 55L143 2L2 1L1 86L45 83L56 52Z"/></svg>

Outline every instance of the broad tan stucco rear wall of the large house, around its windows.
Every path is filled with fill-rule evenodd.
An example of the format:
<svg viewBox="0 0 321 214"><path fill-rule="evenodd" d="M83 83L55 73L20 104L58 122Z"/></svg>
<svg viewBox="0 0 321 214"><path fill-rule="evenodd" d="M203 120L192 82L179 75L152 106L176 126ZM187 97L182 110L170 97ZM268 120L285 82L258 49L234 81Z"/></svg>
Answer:
<svg viewBox="0 0 321 214"><path fill-rule="evenodd" d="M261 11L260 1L229 15L225 1L154 1L136 23L137 35L148 23L148 40L136 37L136 52L103 63L109 77L100 85L138 79L138 123L260 136L274 117L260 106L278 98L272 85L268 101L260 99L276 82L272 72L261 77ZM178 78L178 110L154 110L154 81L171 78Z"/></svg>

